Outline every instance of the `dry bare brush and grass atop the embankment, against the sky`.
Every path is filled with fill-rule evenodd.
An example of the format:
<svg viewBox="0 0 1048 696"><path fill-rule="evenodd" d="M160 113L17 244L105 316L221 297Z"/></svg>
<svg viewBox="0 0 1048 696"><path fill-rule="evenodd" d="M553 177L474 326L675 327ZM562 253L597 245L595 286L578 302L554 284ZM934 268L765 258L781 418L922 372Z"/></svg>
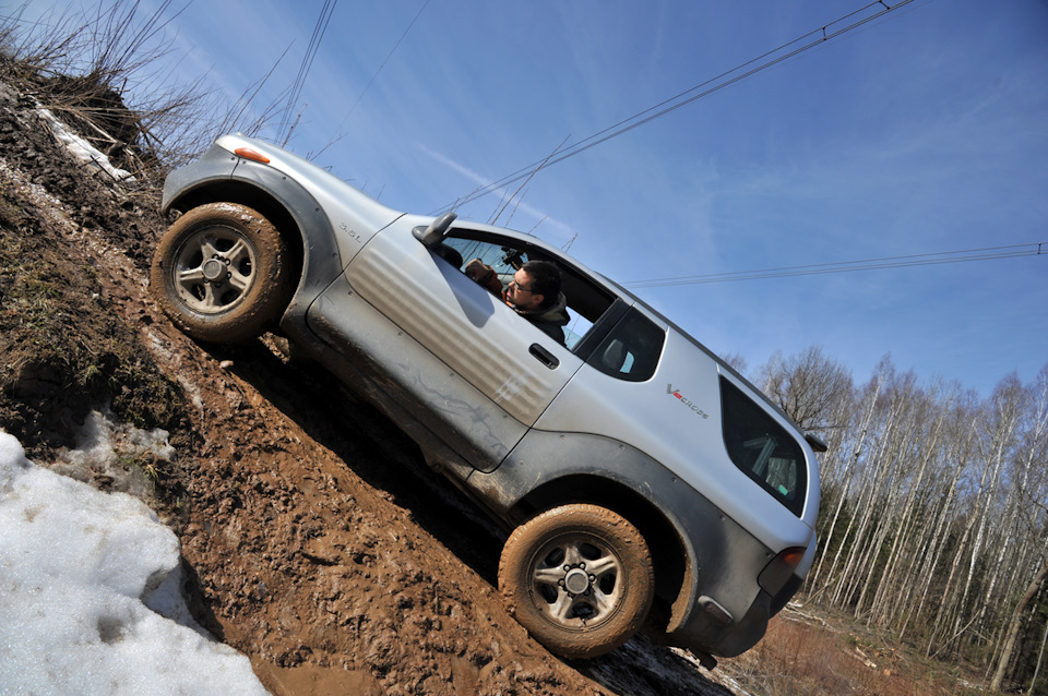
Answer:
<svg viewBox="0 0 1048 696"><path fill-rule="evenodd" d="M100 0L32 23L24 9L0 17L4 77L132 173L184 164L217 135L257 133L276 112L253 104L272 70L233 103L207 75L171 79L169 24L180 12L171 0L151 12L136 0Z"/></svg>

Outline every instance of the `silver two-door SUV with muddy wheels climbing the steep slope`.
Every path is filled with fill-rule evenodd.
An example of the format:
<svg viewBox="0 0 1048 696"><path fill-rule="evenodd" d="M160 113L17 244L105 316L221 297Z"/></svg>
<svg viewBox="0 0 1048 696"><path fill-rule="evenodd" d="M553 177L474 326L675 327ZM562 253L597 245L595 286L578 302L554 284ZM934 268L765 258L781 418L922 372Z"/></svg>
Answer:
<svg viewBox="0 0 1048 696"><path fill-rule="evenodd" d="M808 573L821 443L560 251L390 209L240 135L174 171L163 209L180 215L151 283L171 320L204 343L277 332L377 404L504 526L499 588L552 652L595 657L643 626L712 667ZM514 276L527 291L529 261L560 269L563 343L498 293Z"/></svg>

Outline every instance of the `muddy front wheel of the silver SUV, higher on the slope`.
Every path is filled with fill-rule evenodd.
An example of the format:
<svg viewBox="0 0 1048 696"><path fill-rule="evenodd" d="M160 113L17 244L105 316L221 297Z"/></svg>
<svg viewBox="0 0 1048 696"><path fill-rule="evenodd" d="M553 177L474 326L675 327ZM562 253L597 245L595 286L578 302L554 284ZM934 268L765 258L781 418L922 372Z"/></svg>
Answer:
<svg viewBox="0 0 1048 696"><path fill-rule="evenodd" d="M153 298L187 335L240 343L275 323L290 300L287 244L258 212L209 203L179 217L153 255Z"/></svg>

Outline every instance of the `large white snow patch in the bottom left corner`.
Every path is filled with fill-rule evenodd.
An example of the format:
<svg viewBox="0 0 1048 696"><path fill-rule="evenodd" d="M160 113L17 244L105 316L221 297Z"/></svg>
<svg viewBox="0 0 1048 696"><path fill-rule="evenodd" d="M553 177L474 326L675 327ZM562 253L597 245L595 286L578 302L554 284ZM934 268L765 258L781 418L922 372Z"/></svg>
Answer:
<svg viewBox="0 0 1048 696"><path fill-rule="evenodd" d="M36 466L3 431L0 529L4 693L266 693L245 656L157 613L189 615L178 539L144 503Z"/></svg>

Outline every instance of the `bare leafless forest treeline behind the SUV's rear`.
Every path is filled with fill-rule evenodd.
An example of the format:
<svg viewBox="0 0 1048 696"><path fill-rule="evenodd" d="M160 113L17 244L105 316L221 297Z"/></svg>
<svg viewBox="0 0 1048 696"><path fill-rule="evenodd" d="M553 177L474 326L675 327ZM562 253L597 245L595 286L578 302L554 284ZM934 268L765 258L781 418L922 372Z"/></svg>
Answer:
<svg viewBox="0 0 1048 696"><path fill-rule="evenodd" d="M753 379L829 445L807 601L976 665L990 691L1048 693L1048 364L988 398L888 358L855 384L818 347Z"/></svg>

